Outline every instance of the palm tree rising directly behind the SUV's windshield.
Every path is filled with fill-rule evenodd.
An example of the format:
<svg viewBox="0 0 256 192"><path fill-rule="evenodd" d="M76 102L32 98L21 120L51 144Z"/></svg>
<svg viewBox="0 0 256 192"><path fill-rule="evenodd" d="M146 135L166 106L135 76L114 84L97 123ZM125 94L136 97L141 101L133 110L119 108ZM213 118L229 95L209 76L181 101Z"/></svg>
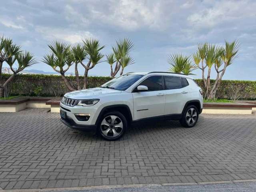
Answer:
<svg viewBox="0 0 256 192"><path fill-rule="evenodd" d="M134 60L130 56L130 52L133 49L134 49L134 44L130 39L124 38L124 39L116 40L116 46L112 46L112 50L116 58L115 69L113 72L111 72L112 78L116 76L121 66L122 66L122 70L121 70L121 74L122 74L126 66L134 63ZM122 63L122 62L127 62L128 58L130 58L129 59L130 61L128 63ZM110 68L111 67L112 66L110 65Z"/></svg>

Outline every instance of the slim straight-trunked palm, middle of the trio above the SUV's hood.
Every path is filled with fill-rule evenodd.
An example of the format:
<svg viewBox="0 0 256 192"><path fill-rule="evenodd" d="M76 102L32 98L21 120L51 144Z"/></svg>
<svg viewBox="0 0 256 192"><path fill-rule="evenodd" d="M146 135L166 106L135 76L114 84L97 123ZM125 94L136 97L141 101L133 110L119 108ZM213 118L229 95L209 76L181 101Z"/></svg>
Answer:
<svg viewBox="0 0 256 192"><path fill-rule="evenodd" d="M75 75L76 75L76 87L77 90L80 90L80 79L79 79L79 73L78 73L78 64L83 62L86 59L87 52L84 49L84 46L81 44L76 44L72 46L71 52L74 57L74 63L75 63Z"/></svg>

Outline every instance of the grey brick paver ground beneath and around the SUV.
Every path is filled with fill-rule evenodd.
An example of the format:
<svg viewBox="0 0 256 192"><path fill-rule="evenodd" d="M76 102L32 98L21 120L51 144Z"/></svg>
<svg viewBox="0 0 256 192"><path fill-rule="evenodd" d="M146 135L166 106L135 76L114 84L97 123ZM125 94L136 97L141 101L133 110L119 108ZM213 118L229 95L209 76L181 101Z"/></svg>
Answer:
<svg viewBox="0 0 256 192"><path fill-rule="evenodd" d="M144 124L108 142L47 111L0 113L0 188L256 179L256 115Z"/></svg>

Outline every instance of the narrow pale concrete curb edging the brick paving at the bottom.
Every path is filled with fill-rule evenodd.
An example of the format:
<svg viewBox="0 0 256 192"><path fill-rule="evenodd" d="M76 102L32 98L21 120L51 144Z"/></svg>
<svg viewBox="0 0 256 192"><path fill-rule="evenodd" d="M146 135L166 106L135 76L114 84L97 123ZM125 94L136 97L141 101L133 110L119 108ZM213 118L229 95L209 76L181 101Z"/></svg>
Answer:
<svg viewBox="0 0 256 192"><path fill-rule="evenodd" d="M212 181L212 182L189 182L189 183L162 183L162 184L128 184L128 185L102 185L86 187L68 187L68 188L44 188L44 189L6 189L0 188L0 192L58 192L68 190L92 190L92 189L110 189L110 188L140 188L150 186L188 186L188 185L207 185L207 184L227 184L227 183L244 183L256 182L256 179L229 180L229 181Z"/></svg>

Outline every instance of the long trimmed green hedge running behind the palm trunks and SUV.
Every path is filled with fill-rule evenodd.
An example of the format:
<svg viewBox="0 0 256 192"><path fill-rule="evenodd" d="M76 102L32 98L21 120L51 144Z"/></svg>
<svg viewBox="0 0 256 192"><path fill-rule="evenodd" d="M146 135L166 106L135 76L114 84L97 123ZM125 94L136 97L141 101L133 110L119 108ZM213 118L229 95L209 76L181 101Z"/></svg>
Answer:
<svg viewBox="0 0 256 192"><path fill-rule="evenodd" d="M10 75L2 74L4 80ZM74 76L67 77L70 83L75 86ZM80 77L81 82L83 77ZM111 80L110 77L88 77L88 88L98 87ZM203 88L202 80L196 79L196 82ZM214 84L214 80L211 80ZM26 95L26 96L63 96L68 89L63 83L61 76L42 75L42 74L19 74L7 87L8 95ZM239 98L242 95L241 98ZM216 93L217 98L239 98L256 99L256 81L238 81L222 80L220 88Z"/></svg>

